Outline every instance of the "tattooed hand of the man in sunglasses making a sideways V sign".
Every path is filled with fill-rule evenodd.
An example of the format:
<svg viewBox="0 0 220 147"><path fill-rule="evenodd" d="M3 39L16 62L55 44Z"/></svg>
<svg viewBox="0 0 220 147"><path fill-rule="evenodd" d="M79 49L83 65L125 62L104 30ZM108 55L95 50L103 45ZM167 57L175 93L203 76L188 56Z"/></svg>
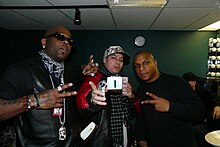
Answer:
<svg viewBox="0 0 220 147"><path fill-rule="evenodd" d="M37 94L41 109L58 108L63 106L63 98L76 95L76 91L64 92L65 89L72 87L72 83L60 86L60 89L50 89Z"/></svg>

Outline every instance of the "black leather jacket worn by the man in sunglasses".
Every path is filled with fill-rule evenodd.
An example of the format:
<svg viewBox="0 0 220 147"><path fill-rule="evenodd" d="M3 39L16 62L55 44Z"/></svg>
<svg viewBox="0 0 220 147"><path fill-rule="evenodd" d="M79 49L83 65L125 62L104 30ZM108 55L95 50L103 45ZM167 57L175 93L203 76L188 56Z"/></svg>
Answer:
<svg viewBox="0 0 220 147"><path fill-rule="evenodd" d="M77 85L77 81L81 79L80 73L74 67L65 64L65 83L72 82L73 85ZM5 99L14 99L33 94L34 89L37 92L52 89L48 72L44 68L40 57L14 64L1 76L0 96ZM33 109L22 113L14 119L17 146L78 146L76 140L79 134L79 125L75 98L66 98L65 127L67 139L65 141L59 141L58 130L60 122L58 117L52 116L51 109Z"/></svg>

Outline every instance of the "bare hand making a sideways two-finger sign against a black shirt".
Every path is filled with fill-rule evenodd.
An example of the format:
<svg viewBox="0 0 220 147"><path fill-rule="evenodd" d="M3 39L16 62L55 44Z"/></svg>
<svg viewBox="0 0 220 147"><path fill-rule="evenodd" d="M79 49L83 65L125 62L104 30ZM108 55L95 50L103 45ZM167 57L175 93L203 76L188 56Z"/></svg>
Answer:
<svg viewBox="0 0 220 147"><path fill-rule="evenodd" d="M168 112L170 107L170 102L164 98L158 97L152 93L146 92L146 95L150 96L152 100L142 101L141 104L152 104L154 109L159 112Z"/></svg>

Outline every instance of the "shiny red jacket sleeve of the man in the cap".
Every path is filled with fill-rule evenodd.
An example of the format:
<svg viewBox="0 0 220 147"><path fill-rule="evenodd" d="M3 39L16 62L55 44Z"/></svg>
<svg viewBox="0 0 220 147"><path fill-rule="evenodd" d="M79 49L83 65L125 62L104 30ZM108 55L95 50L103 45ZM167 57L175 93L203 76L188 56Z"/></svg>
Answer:
<svg viewBox="0 0 220 147"><path fill-rule="evenodd" d="M101 79L102 74L98 72L94 77L85 76L83 79L83 83L80 86L77 96L76 96L76 102L77 102L77 108L79 110L87 109L89 110L92 106L90 103L91 99L91 86L89 82L93 82L95 85L98 85L98 81Z"/></svg>

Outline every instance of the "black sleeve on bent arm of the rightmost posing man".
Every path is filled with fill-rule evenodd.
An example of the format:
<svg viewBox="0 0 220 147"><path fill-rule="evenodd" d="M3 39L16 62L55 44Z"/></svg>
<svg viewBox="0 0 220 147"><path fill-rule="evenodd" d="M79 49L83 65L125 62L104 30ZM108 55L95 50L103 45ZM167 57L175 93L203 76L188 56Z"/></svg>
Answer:
<svg viewBox="0 0 220 147"><path fill-rule="evenodd" d="M202 101L193 92L188 83L177 79L173 86L174 98L170 101L169 113L183 121L198 123L205 117L205 109ZM179 86L177 86L179 85Z"/></svg>

